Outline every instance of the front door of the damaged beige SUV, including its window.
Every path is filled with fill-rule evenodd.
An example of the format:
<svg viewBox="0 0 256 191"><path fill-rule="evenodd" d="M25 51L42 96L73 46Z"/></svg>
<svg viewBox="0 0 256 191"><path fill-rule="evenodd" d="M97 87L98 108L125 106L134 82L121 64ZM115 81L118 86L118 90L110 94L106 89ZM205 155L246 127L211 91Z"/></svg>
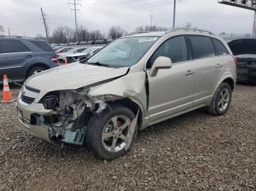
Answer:
<svg viewBox="0 0 256 191"><path fill-rule="evenodd" d="M156 77L151 77L149 69L159 56L170 58L173 67L160 69ZM149 85L148 113L151 123L192 107L195 80L184 36L174 36L163 42L148 60L146 69Z"/></svg>

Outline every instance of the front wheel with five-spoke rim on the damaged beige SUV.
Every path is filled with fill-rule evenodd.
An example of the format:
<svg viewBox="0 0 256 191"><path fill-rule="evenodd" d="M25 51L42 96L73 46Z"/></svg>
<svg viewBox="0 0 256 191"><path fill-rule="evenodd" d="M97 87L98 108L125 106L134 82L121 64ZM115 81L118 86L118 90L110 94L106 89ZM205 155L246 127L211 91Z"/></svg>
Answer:
<svg viewBox="0 0 256 191"><path fill-rule="evenodd" d="M131 149L138 133L138 124L133 136L130 131L129 124L135 119L135 114L130 109L118 104L112 104L110 107L111 109L105 109L100 114L94 114L86 127L87 145L96 155L106 160L124 155ZM122 128L126 126L127 128Z"/></svg>

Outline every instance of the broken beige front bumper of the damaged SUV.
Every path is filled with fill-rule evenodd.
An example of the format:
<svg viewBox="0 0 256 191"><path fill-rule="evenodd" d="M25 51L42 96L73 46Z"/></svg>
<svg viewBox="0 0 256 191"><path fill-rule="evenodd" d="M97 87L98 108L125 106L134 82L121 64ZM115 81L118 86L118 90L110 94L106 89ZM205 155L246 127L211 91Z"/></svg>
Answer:
<svg viewBox="0 0 256 191"><path fill-rule="evenodd" d="M49 114L50 110L45 109L42 104L32 103L31 105L28 105L23 103L20 96L16 102L16 107L18 112L18 120L23 126L23 129L29 132L32 136L36 136L37 138L47 141L50 144L58 144L57 141L50 139L50 129L48 127L31 124L31 114Z"/></svg>

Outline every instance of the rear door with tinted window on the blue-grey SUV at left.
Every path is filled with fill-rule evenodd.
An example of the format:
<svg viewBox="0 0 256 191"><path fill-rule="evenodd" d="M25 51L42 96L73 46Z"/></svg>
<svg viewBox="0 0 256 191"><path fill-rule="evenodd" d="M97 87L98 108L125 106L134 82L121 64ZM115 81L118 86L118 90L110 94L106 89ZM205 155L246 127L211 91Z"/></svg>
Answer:
<svg viewBox="0 0 256 191"><path fill-rule="evenodd" d="M22 80L23 66L32 57L32 52L18 39L1 39L0 77L7 74L9 79Z"/></svg>

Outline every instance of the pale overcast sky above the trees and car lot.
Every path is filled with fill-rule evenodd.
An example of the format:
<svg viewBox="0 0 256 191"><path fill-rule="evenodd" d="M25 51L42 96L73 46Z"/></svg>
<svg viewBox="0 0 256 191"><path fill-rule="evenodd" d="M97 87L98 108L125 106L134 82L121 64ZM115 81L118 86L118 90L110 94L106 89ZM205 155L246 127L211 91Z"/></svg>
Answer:
<svg viewBox="0 0 256 191"><path fill-rule="evenodd" d="M189 22L217 34L252 33L254 12L250 10L218 4L217 0L177 1L176 26ZM153 24L172 26L173 0L80 0L79 3L78 24L105 34L110 26L132 32L138 26L149 25L150 15ZM50 34L58 26L75 28L75 15L68 0L1 0L0 25L4 26L5 34L9 27L11 35L45 35L39 7L48 15Z"/></svg>

